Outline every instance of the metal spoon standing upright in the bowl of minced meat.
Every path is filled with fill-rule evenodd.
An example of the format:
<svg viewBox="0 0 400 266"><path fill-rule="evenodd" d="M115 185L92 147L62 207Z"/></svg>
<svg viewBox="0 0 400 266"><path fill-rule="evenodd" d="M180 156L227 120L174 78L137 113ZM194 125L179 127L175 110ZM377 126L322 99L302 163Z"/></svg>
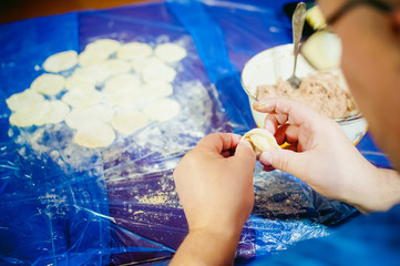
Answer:
<svg viewBox="0 0 400 266"><path fill-rule="evenodd" d="M306 20L306 3L299 2L291 18L295 64L293 69L293 74L287 80L290 83L291 88L294 89L299 88L301 82L301 80L296 76L296 65L297 65L297 55L299 52L299 44L300 44L305 20Z"/></svg>

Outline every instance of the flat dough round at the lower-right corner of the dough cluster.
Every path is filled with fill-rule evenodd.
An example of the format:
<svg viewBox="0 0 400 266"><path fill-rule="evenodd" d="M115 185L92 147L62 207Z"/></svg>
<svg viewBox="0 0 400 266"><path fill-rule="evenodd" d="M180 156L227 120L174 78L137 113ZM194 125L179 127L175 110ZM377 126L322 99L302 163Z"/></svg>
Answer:
<svg viewBox="0 0 400 266"><path fill-rule="evenodd" d="M180 110L181 105L175 100L157 99L144 109L144 113L152 120L167 121L175 117Z"/></svg>

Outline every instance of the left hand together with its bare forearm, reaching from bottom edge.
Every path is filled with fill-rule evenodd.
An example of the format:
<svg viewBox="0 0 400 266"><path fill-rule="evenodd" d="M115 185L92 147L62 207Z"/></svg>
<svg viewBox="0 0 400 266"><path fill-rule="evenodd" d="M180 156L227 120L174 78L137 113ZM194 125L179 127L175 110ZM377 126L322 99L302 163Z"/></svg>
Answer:
<svg viewBox="0 0 400 266"><path fill-rule="evenodd" d="M254 205L255 154L235 134L211 134L187 153L174 180L189 233L171 265L230 265ZM230 156L230 152L235 154Z"/></svg>

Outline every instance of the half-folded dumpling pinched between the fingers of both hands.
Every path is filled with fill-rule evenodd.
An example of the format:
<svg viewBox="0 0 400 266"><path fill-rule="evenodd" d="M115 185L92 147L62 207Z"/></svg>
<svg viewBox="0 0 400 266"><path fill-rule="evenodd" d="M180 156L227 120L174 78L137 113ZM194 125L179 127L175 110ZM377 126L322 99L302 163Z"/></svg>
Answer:
<svg viewBox="0 0 400 266"><path fill-rule="evenodd" d="M252 144L257 157L268 149L280 149L275 136L264 129L250 130L243 136L243 140L247 140Z"/></svg>

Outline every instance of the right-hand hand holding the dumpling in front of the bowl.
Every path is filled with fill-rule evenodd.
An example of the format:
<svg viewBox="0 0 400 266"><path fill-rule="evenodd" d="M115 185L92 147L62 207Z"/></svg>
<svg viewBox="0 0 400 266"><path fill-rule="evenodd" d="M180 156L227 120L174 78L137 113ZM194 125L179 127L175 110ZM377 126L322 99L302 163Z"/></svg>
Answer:
<svg viewBox="0 0 400 266"><path fill-rule="evenodd" d="M265 129L284 150L264 152L259 161L305 181L318 193L355 205L362 212L387 208L378 195L378 170L348 140L340 125L290 100L270 99L254 104L268 113Z"/></svg>

